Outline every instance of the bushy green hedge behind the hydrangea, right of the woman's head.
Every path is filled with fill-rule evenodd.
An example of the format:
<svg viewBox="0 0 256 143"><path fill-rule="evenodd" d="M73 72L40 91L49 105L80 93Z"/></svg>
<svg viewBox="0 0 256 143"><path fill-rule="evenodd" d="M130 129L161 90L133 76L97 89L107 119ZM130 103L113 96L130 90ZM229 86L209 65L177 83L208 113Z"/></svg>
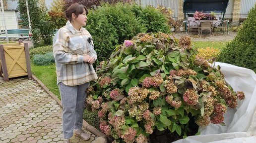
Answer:
<svg viewBox="0 0 256 143"><path fill-rule="evenodd" d="M91 10L86 29L93 37L98 63L109 58L116 45L138 33L170 32L166 17L154 7L127 3L103 3Z"/></svg>

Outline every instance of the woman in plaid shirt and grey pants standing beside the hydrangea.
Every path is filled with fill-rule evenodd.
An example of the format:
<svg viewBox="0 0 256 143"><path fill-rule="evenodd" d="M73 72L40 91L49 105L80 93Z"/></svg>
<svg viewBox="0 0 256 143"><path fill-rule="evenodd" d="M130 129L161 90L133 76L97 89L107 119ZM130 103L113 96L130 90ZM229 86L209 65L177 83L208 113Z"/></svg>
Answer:
<svg viewBox="0 0 256 143"><path fill-rule="evenodd" d="M84 100L91 80L97 79L92 64L97 59L92 37L83 28L86 25L88 9L78 3L65 11L68 19L53 40L56 62L57 84L63 105L64 143L70 143L74 135L87 141L88 134L82 132Z"/></svg>

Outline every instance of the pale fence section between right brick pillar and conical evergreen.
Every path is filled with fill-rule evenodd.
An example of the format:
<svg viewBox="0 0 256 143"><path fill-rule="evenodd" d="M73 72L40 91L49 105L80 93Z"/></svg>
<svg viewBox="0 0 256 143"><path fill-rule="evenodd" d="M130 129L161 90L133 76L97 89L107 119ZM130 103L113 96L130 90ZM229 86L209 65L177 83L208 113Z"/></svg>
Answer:
<svg viewBox="0 0 256 143"><path fill-rule="evenodd" d="M255 6L256 0L242 0L240 18L246 18L250 9Z"/></svg>

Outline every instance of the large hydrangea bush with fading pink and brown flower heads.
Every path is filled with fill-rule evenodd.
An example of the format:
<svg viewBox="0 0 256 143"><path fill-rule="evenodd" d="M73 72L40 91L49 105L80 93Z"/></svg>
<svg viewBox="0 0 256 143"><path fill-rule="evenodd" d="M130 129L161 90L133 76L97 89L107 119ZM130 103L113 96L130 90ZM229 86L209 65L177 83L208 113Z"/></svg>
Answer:
<svg viewBox="0 0 256 143"><path fill-rule="evenodd" d="M237 107L223 74L191 47L163 33L138 34L117 46L97 67L86 103L98 111L101 131L114 143L147 143L154 130L188 136L190 122L223 124L227 107Z"/></svg>

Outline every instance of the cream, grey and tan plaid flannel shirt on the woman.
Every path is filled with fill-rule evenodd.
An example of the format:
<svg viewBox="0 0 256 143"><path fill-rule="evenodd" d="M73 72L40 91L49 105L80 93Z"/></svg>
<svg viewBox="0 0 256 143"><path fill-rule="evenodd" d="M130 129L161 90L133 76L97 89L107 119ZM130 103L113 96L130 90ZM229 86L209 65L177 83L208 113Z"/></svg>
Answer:
<svg viewBox="0 0 256 143"><path fill-rule="evenodd" d="M83 55L97 59L92 37L85 28L78 31L67 21L54 36L53 54L57 84L75 86L98 79L92 64L83 62Z"/></svg>

